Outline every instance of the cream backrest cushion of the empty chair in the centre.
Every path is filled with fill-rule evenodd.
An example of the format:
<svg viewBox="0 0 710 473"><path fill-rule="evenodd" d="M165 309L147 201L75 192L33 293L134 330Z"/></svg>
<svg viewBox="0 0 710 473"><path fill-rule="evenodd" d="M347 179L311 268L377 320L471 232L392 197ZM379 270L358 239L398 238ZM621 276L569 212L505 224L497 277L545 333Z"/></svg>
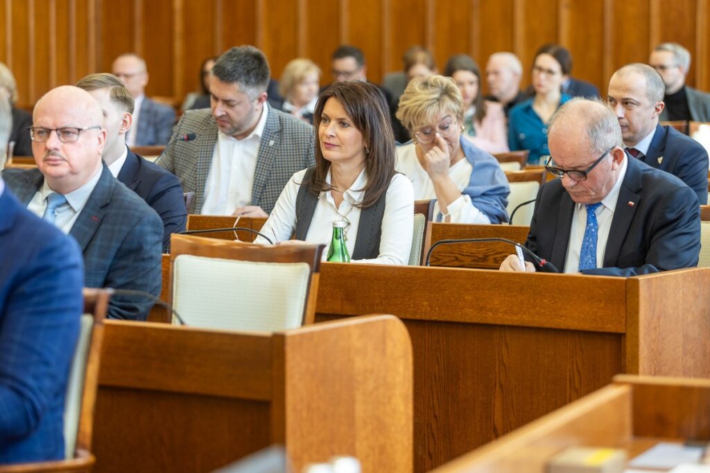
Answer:
<svg viewBox="0 0 710 473"><path fill-rule="evenodd" d="M273 332L303 322L306 263L265 263L179 255L173 308L187 325Z"/></svg>

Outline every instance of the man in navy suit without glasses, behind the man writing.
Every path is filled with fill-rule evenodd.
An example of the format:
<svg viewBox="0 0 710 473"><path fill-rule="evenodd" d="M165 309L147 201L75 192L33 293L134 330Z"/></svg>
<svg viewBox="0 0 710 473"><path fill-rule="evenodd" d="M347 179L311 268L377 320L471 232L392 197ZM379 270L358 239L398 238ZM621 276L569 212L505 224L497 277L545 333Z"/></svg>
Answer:
<svg viewBox="0 0 710 473"><path fill-rule="evenodd" d="M671 126L658 123L665 109L660 75L645 64L630 64L609 80L607 103L613 108L623 143L635 159L670 172L695 191L700 204L708 199L708 153L700 143Z"/></svg>

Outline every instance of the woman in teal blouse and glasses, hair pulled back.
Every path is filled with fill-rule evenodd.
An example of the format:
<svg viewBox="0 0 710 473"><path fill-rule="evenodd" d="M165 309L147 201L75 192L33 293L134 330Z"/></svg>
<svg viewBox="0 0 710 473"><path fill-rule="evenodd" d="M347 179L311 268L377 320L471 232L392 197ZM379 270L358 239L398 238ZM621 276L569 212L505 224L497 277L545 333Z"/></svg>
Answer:
<svg viewBox="0 0 710 473"><path fill-rule="evenodd" d="M547 123L557 108L572 98L562 94L562 83L569 74L571 64L569 52L557 45L545 45L537 50L532 66L532 89L535 95L510 111L510 150L530 150L528 162L532 165L540 164L541 157L550 155L550 149L547 148Z"/></svg>

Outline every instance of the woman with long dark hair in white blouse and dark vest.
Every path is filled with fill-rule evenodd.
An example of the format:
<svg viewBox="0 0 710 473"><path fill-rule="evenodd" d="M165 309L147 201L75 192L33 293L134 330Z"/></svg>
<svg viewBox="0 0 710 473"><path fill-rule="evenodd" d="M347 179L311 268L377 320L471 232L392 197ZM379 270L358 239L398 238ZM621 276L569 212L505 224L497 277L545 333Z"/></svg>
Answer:
<svg viewBox="0 0 710 473"><path fill-rule="evenodd" d="M337 82L314 114L315 167L293 174L261 233L277 242L329 244L344 221L353 260L406 265L414 226L414 192L395 172L388 106L368 82ZM267 243L259 237L256 243ZM323 252L324 257L327 250Z"/></svg>

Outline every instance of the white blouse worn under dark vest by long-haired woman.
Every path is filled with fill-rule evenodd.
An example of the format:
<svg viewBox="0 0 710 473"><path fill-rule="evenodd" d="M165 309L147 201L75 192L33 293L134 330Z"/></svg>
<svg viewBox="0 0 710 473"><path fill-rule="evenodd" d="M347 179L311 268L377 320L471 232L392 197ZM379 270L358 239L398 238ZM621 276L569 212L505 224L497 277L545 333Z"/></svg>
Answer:
<svg viewBox="0 0 710 473"><path fill-rule="evenodd" d="M293 174L286 187L281 191L271 215L261 228L261 233L275 242L290 240L295 231L296 197L305 173L306 170L303 169ZM330 184L330 172L328 172L326 182ZM346 229L345 245L350 255L353 254L361 213L360 208L354 204L359 204L364 198L365 192L358 189L362 189L366 182L367 177L363 169L350 189L343 193L343 201L339 208L335 207L335 202L329 191L320 193L306 241L326 245L323 260L327 259L330 240L333 237L333 221L346 220L350 222L349 228ZM380 254L376 258L359 260L359 262L406 265L409 262L414 231L414 194L408 179L402 174L395 174L387 188L385 199ZM268 243L261 237L256 238L255 242Z"/></svg>

